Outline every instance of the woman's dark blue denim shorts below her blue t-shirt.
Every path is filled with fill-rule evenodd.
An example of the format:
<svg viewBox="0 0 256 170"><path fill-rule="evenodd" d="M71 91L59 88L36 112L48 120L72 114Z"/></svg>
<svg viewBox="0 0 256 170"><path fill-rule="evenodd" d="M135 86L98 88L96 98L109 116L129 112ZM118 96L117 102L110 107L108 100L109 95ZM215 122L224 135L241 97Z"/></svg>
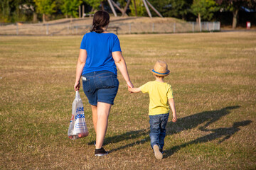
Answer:
<svg viewBox="0 0 256 170"><path fill-rule="evenodd" d="M90 72L82 75L82 89L93 106L97 106L97 102L113 105L118 86L117 75L110 71Z"/></svg>

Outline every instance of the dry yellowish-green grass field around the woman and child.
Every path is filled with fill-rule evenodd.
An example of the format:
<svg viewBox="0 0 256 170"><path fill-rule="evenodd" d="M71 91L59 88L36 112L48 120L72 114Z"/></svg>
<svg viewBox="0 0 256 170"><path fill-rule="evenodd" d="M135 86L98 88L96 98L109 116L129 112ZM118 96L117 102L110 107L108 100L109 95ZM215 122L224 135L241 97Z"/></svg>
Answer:
<svg viewBox="0 0 256 170"><path fill-rule="evenodd" d="M149 98L119 91L95 157L95 132L68 139L82 36L0 37L0 169L256 169L256 32L119 35L134 86L165 60L177 123L167 125L164 159L150 148Z"/></svg>

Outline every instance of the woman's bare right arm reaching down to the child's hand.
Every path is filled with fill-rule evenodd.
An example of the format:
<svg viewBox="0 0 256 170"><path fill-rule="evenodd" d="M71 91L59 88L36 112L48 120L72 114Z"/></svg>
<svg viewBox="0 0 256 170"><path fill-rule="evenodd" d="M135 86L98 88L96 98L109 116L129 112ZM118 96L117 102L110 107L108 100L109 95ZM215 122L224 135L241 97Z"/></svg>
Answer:
<svg viewBox="0 0 256 170"><path fill-rule="evenodd" d="M127 86L133 87L132 82L129 79L129 74L127 71L127 65L124 61L124 57L122 56L121 52L112 52L112 56L114 59L115 64L117 65L119 71L121 72L122 76L124 77L124 80L127 82Z"/></svg>

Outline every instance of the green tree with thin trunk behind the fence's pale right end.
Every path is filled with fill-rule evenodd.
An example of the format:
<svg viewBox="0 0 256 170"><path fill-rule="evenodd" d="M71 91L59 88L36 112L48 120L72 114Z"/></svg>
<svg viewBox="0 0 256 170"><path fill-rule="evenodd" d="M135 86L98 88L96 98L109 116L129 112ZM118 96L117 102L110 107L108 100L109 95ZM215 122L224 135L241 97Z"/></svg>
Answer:
<svg viewBox="0 0 256 170"><path fill-rule="evenodd" d="M219 10L214 0L193 0L191 6L193 14L198 16L198 24L201 24L201 18L210 20L213 18L213 13Z"/></svg>

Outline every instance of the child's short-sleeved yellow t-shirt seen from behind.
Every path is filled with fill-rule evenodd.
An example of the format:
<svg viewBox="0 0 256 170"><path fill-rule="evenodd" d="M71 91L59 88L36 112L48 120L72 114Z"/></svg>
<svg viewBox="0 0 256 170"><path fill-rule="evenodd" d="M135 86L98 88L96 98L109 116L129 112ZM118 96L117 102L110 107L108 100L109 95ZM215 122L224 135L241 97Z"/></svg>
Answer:
<svg viewBox="0 0 256 170"><path fill-rule="evenodd" d="M166 82L149 81L139 87L142 93L149 94L149 115L169 113L169 98L174 98L171 85Z"/></svg>

